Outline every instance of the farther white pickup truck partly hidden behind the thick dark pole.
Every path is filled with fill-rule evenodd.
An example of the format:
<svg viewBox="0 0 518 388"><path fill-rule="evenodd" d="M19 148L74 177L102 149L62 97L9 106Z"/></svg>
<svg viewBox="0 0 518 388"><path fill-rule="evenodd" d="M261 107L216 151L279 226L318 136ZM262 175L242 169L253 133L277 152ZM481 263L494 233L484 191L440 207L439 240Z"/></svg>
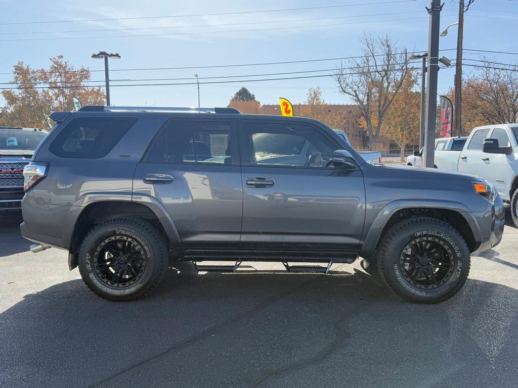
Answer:
<svg viewBox="0 0 518 388"><path fill-rule="evenodd" d="M435 139L434 167L443 170L456 170L467 137ZM456 160L456 161L455 161ZM423 148L407 156L407 166L423 167Z"/></svg>

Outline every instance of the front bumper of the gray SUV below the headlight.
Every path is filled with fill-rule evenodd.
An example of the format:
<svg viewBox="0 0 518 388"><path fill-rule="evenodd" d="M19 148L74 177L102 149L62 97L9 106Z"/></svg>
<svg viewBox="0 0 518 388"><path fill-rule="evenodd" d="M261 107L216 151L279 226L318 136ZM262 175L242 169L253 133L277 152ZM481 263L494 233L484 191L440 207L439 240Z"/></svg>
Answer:
<svg viewBox="0 0 518 388"><path fill-rule="evenodd" d="M494 248L502 240L503 227L506 223L506 211L500 196L495 198L490 209L486 212L471 213L478 225L479 238L476 236L479 247L473 253L483 252Z"/></svg>

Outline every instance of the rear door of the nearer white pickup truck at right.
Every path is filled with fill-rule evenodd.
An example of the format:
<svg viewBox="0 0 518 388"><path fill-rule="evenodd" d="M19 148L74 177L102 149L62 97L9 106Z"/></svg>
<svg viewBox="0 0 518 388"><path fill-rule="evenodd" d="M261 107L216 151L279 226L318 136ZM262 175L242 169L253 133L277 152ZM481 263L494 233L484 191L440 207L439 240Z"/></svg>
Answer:
<svg viewBox="0 0 518 388"><path fill-rule="evenodd" d="M468 139L468 146L461 152L458 171L478 175L489 180L492 175L487 155L482 152L482 143L489 135L490 128L477 129ZM487 159L487 160L486 160Z"/></svg>

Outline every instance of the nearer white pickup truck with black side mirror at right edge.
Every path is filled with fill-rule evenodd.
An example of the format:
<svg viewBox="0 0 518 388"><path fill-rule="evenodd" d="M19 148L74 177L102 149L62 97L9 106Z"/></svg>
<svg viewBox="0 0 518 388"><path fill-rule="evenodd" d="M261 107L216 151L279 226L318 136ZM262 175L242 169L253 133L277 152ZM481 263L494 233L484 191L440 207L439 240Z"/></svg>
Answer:
<svg viewBox="0 0 518 388"><path fill-rule="evenodd" d="M436 151L436 161L439 156L448 160L438 168L478 175L494 185L510 203L518 227L518 124L474 128L461 152Z"/></svg>

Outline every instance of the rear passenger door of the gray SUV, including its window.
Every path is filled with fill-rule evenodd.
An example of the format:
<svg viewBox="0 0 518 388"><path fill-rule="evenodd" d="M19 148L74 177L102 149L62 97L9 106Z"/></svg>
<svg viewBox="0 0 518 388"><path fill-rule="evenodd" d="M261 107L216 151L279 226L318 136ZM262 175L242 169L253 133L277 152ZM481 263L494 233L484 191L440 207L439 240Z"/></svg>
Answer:
<svg viewBox="0 0 518 388"><path fill-rule="evenodd" d="M185 246L239 242L243 191L233 120L166 122L137 166L133 191L162 202Z"/></svg>

